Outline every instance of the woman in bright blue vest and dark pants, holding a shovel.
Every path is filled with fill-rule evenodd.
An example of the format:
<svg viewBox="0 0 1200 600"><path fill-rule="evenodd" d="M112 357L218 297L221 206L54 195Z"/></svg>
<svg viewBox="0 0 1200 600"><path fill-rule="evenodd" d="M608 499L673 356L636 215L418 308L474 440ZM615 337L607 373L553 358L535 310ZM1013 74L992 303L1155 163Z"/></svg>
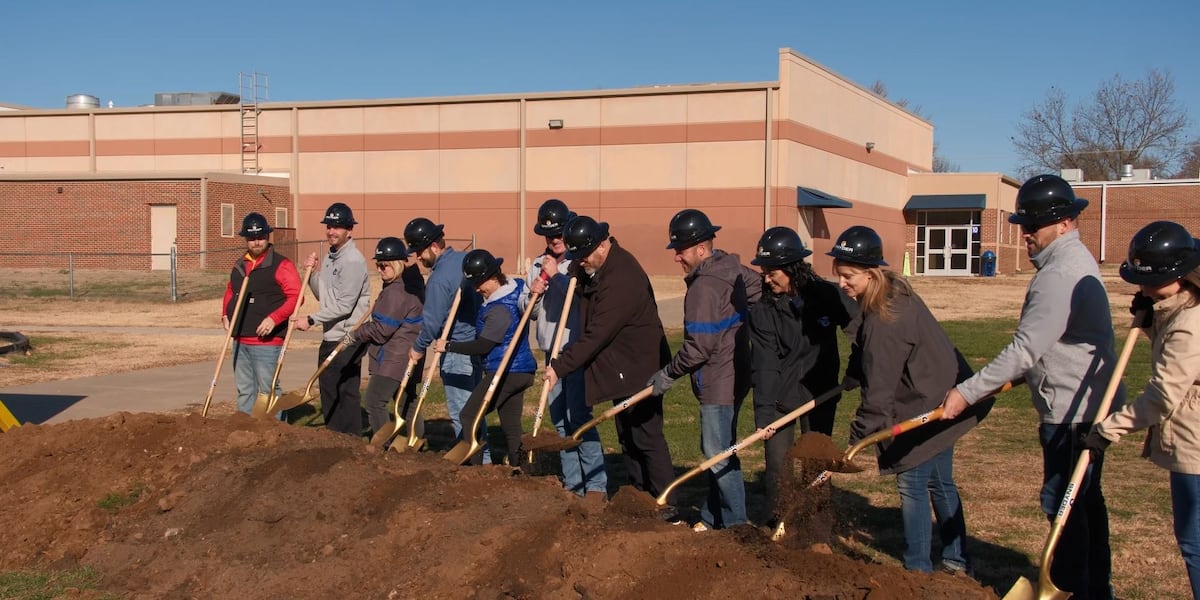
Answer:
<svg viewBox="0 0 1200 600"><path fill-rule="evenodd" d="M494 408L500 415L500 428L504 430L504 439L509 448L509 464L520 468L524 462L524 452L521 451L522 398L524 390L533 384L533 373L538 364L529 350L529 336L524 331L520 334L516 331L517 324L521 323L523 305L528 299L523 294L526 282L521 278L505 277L500 272L503 263L503 258L496 258L486 250L473 250L467 253L462 260L463 280L474 286L475 292L484 299L475 322L475 338L467 342L434 343L443 352L484 359L484 379L470 392L470 398L458 414L460 422L464 424L464 434L469 428L466 424L474 421L479 414L492 377L500 367L504 352L509 344L517 344L487 408L488 412ZM482 452L472 456L470 463L482 464Z"/></svg>

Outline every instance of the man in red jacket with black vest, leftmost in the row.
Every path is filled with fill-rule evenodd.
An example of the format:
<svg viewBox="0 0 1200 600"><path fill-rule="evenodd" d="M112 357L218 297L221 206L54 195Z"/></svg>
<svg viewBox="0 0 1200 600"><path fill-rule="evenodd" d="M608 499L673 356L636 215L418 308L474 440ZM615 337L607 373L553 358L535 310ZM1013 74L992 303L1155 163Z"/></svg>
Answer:
<svg viewBox="0 0 1200 600"><path fill-rule="evenodd" d="M266 217L251 212L241 221L246 254L238 259L226 284L221 324L233 329L233 372L238 383L238 410L250 414L258 394L270 394L275 364L283 348L288 318L300 298L300 275L269 241L272 229ZM248 274L248 275L247 275ZM241 282L250 277L246 298L238 298ZM238 323L229 323L234 307L242 304ZM278 384L276 394L282 394Z"/></svg>

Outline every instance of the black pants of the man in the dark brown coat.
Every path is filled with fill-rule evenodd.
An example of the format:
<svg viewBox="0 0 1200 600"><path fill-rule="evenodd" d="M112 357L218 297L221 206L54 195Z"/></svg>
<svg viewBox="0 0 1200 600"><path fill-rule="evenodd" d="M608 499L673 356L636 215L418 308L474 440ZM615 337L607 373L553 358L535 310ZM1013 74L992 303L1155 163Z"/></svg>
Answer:
<svg viewBox="0 0 1200 600"><path fill-rule="evenodd" d="M622 402L613 401L613 406ZM650 396L626 408L616 420L630 485L658 497L674 480L671 450L662 436L662 396ZM667 504L673 504L672 500L667 498Z"/></svg>

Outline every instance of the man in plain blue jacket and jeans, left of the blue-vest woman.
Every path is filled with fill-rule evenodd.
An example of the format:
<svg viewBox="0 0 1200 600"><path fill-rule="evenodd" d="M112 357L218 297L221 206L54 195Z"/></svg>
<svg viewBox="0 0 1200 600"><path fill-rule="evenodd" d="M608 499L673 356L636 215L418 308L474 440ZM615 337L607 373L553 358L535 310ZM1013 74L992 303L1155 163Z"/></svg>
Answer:
<svg viewBox="0 0 1200 600"><path fill-rule="evenodd" d="M458 302L458 312L454 316L454 329L450 330L451 342L468 342L475 338L475 316L479 311L479 294L475 289L464 284L462 277L462 259L467 254L446 245L443 230L445 226L434 224L425 217L416 217L404 227L404 241L408 244L409 254L430 269L430 278L425 282L425 308L421 311L421 332L409 350L412 359L421 360L425 350L442 335L450 314L450 305L454 304L454 295L462 290L462 300ZM448 352L442 356L442 384L445 388L446 410L450 413L450 422L454 425L455 437L462 434L462 424L458 421L458 413L467 406L470 391L480 380L479 365L472 361L466 354ZM479 434L479 439L487 439L485 433ZM484 462L491 462L488 450L484 449Z"/></svg>

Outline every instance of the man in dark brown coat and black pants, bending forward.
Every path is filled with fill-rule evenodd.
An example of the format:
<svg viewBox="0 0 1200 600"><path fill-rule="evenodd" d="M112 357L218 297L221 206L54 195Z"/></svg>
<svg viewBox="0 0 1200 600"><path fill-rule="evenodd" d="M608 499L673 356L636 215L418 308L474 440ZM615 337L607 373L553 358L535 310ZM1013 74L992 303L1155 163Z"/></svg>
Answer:
<svg viewBox="0 0 1200 600"><path fill-rule="evenodd" d="M559 376L582 368L588 406L618 403L641 391L671 359L650 280L608 236L608 223L575 217L563 240L575 260L571 275L578 278L580 336L550 364L546 379L553 386ZM616 422L630 484L658 496L674 479L662 436L662 396L626 408Z"/></svg>

